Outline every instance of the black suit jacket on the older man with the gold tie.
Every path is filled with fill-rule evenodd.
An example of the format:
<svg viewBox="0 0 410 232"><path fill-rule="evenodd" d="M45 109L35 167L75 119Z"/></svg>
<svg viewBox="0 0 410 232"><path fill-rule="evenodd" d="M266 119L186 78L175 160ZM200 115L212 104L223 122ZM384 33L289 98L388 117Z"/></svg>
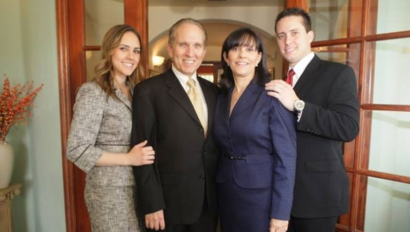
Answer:
<svg viewBox="0 0 410 232"><path fill-rule="evenodd" d="M133 95L131 145L148 139L152 165L134 167L140 214L165 209L167 224L197 221L204 196L217 212L215 172L218 149L212 132L219 89L198 77L208 106L208 135L177 77L170 69L139 83Z"/></svg>

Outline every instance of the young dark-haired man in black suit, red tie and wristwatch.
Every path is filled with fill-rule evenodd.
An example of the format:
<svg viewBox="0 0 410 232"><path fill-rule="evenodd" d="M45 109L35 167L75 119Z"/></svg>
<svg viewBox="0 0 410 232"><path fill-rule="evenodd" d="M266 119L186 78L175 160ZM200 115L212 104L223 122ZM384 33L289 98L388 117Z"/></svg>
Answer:
<svg viewBox="0 0 410 232"><path fill-rule="evenodd" d="M285 9L276 18L275 31L289 70L285 80L273 80L266 89L295 112L297 121L296 180L288 231L335 231L337 217L349 208L341 141L352 141L359 131L355 73L312 52L314 33L305 11Z"/></svg>

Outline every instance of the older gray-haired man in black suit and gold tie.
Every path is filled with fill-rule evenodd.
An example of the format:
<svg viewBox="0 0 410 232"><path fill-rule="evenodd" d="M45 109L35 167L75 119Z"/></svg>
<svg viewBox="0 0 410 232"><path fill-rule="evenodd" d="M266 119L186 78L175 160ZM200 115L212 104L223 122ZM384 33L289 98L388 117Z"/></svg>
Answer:
<svg viewBox="0 0 410 232"><path fill-rule="evenodd" d="M148 140L155 163L134 168L140 217L148 230L216 230L213 140L219 89L197 76L207 35L194 19L175 23L169 32L172 68L134 89L131 142Z"/></svg>

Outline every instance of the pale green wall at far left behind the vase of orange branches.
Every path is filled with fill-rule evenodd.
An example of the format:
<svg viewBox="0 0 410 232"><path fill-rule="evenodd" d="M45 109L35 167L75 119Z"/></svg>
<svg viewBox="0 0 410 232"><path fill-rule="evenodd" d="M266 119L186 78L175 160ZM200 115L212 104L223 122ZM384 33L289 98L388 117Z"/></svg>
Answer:
<svg viewBox="0 0 410 232"><path fill-rule="evenodd" d="M0 1L0 28L0 73L13 85L44 84L29 123L7 137L15 153L12 182L23 184L13 199L14 231L65 231L55 1Z"/></svg>

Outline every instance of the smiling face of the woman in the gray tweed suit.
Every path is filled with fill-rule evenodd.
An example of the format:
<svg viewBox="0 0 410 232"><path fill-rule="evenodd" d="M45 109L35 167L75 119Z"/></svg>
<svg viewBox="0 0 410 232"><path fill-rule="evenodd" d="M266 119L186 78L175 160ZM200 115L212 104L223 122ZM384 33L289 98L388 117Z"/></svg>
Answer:
<svg viewBox="0 0 410 232"><path fill-rule="evenodd" d="M134 72L138 66L141 44L138 37L131 31L122 35L119 46L111 55L114 78L125 78Z"/></svg>

